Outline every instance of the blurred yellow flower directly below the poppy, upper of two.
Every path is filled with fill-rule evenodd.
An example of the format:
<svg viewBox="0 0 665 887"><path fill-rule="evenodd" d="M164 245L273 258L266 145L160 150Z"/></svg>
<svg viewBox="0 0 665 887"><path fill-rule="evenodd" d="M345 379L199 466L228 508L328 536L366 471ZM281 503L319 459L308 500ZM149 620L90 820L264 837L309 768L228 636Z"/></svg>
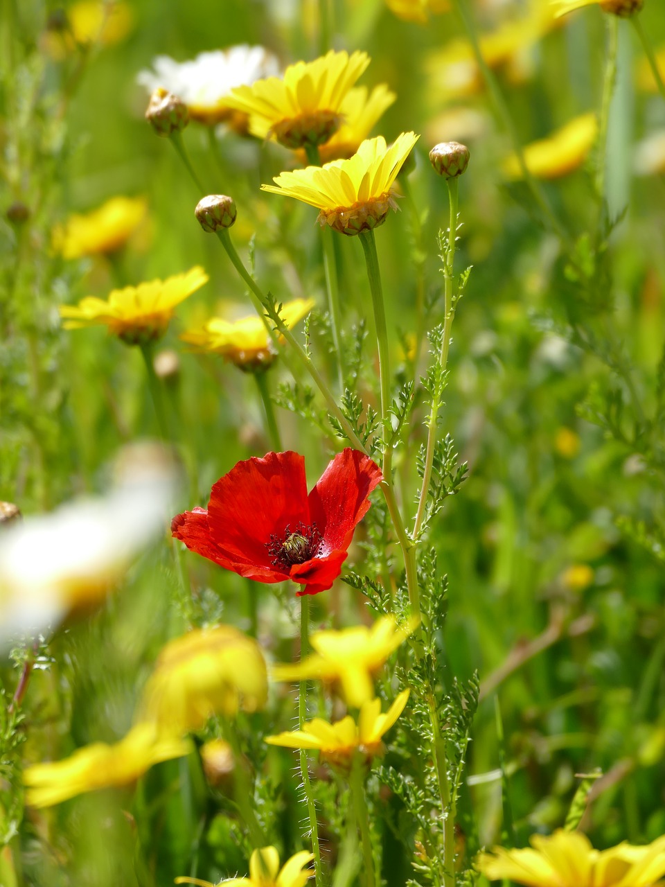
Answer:
<svg viewBox="0 0 665 887"><path fill-rule="evenodd" d="M372 678L388 656L414 630L418 622L395 623L395 616L381 616L367 628L357 625L340 632L315 632L310 638L317 651L293 665L276 665L276 680L323 680L340 687L348 705L360 708L374 696Z"/></svg>

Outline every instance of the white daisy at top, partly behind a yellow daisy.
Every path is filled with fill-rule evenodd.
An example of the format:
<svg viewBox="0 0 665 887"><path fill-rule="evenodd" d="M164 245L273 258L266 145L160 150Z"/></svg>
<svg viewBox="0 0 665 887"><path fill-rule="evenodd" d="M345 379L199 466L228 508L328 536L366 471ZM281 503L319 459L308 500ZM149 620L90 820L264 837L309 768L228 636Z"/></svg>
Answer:
<svg viewBox="0 0 665 887"><path fill-rule="evenodd" d="M141 71L137 82L147 90L163 87L184 101L193 120L208 126L222 121L246 131L246 117L226 106L225 98L237 86L279 74L278 59L262 46L231 46L200 52L196 59L178 62L157 56L152 71ZM242 119L239 119L242 118Z"/></svg>

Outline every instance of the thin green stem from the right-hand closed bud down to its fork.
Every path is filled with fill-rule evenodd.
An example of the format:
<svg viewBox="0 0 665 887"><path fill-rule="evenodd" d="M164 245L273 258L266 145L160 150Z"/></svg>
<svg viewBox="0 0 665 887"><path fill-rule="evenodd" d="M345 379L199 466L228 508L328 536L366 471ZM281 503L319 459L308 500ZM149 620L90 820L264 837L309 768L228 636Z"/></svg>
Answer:
<svg viewBox="0 0 665 887"><path fill-rule="evenodd" d="M458 179L446 179L448 184L448 199L450 206L450 217L448 225L448 244L446 246L444 262L443 262L443 336L441 342L441 352L439 354L439 366L441 367L442 379L445 380L446 368L448 366L448 351L450 349L450 328L455 317L455 294L453 293L454 275L453 265L455 262L455 239L458 232ZM442 382L442 385L445 382ZM423 483L420 488L420 497L418 502L418 511L416 520L413 525L413 538L418 543L420 527L427 505L429 493L429 484L432 480L432 466L434 464L434 447L436 445L436 432L439 425L439 410L442 405L442 390L435 391L430 406L429 418L427 420L427 447L425 455L425 470L423 471Z"/></svg>

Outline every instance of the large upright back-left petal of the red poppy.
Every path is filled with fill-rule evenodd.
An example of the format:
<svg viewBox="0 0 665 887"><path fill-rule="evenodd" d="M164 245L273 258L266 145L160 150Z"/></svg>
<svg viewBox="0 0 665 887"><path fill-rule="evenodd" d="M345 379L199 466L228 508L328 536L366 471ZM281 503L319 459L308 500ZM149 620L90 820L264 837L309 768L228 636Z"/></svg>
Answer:
<svg viewBox="0 0 665 887"><path fill-rule="evenodd" d="M210 536L231 560L274 573L270 537L309 524L305 459L286 451L239 462L215 483L207 514Z"/></svg>

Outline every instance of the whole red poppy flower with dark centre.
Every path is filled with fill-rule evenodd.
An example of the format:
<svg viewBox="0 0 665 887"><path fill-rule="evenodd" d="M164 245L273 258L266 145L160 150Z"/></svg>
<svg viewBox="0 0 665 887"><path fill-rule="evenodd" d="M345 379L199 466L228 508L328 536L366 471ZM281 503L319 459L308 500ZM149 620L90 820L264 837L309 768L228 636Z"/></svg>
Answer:
<svg viewBox="0 0 665 887"><path fill-rule="evenodd" d="M364 453L347 448L307 493L305 459L269 452L239 462L215 483L205 508L176 514L171 532L192 551L257 582L293 582L298 594L330 588L356 524L383 480Z"/></svg>

